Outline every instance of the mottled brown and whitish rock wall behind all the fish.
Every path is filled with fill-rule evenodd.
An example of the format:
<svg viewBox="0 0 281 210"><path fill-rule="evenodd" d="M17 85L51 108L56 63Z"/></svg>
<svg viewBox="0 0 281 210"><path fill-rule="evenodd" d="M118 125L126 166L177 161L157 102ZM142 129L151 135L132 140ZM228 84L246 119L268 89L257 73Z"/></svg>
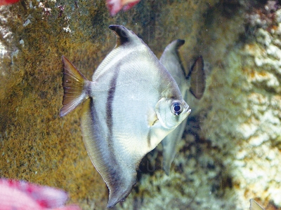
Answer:
<svg viewBox="0 0 281 210"><path fill-rule="evenodd" d="M81 138L78 108L60 118L69 58L86 78L115 46L109 25L134 31L157 57L176 38L188 71L202 55L195 101L169 176L159 144L114 209L281 207L281 7L278 1L141 0L112 18L105 0L22 0L0 7L0 176L56 188L82 209L108 190Z"/></svg>

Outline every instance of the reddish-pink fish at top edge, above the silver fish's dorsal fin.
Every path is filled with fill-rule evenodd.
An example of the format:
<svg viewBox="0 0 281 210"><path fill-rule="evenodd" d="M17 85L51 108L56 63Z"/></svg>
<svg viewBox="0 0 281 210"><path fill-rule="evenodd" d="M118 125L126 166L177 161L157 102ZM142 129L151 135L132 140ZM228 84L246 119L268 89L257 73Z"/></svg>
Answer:
<svg viewBox="0 0 281 210"><path fill-rule="evenodd" d="M106 6L113 17L119 13L120 10L126 11L135 6L141 0L107 0Z"/></svg>

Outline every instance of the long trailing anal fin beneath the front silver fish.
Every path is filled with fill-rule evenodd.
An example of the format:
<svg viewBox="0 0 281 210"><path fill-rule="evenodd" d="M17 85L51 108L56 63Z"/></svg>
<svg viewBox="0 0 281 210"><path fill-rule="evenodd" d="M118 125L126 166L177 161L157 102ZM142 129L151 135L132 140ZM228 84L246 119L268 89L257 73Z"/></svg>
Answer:
<svg viewBox="0 0 281 210"><path fill-rule="evenodd" d="M107 207L124 200L136 184L136 164L122 159L122 151L114 148L100 124L94 100L90 97L83 104L81 128L83 140L93 165L103 177L110 190ZM119 154L116 154L119 153Z"/></svg>

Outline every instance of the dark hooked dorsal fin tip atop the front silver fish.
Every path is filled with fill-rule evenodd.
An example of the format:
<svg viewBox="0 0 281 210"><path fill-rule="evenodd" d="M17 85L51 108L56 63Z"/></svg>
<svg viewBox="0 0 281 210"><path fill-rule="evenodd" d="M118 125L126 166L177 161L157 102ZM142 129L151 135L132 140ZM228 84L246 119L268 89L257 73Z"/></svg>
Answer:
<svg viewBox="0 0 281 210"><path fill-rule="evenodd" d="M133 31L126 29L122 25L110 25L109 27L112 31L115 31L117 36L117 46L130 43L132 41L140 40Z"/></svg>

